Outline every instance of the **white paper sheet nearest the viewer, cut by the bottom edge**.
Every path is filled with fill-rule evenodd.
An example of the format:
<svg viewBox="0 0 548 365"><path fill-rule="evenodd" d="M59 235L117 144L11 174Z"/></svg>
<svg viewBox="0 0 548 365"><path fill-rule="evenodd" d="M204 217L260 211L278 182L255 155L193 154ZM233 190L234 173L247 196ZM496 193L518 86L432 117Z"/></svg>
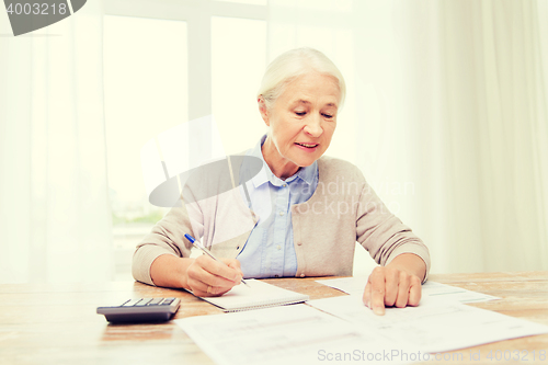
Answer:
<svg viewBox="0 0 548 365"><path fill-rule="evenodd" d="M217 364L404 364L416 351L306 305L175 320ZM402 362L403 355L408 358Z"/></svg>

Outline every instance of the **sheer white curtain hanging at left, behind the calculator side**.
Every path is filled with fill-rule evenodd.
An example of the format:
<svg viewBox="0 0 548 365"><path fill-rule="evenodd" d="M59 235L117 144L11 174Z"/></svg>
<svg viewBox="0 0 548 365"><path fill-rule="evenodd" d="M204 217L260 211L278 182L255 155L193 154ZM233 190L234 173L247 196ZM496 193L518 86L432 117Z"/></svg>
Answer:
<svg viewBox="0 0 548 365"><path fill-rule="evenodd" d="M0 283L112 278L102 14L18 37L0 14Z"/></svg>

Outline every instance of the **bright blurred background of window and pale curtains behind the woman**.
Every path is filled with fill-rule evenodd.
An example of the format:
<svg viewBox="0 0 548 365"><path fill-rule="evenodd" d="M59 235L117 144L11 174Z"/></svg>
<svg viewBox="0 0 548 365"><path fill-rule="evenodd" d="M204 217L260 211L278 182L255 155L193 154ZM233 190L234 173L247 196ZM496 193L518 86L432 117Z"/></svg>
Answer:
<svg viewBox="0 0 548 365"><path fill-rule="evenodd" d="M251 148L264 69L300 46L347 83L327 153L432 273L548 270L547 1L90 0L18 37L0 11L0 283L132 280L165 213L140 148L208 114L227 155Z"/></svg>

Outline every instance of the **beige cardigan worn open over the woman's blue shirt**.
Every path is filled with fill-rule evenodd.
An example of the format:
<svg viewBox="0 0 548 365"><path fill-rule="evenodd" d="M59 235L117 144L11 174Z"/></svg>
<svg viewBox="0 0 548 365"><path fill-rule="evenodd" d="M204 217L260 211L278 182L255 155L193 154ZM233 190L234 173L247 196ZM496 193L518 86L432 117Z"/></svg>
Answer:
<svg viewBox="0 0 548 365"><path fill-rule="evenodd" d="M352 275L356 241L380 265L398 254L414 253L425 262L427 275L429 249L386 208L355 166L322 157L318 169L313 195L292 206L297 277ZM192 244L184 233L202 238L215 255L233 259L256 221L238 189L174 207L137 244L133 275L153 285L150 265L159 255L187 258Z"/></svg>

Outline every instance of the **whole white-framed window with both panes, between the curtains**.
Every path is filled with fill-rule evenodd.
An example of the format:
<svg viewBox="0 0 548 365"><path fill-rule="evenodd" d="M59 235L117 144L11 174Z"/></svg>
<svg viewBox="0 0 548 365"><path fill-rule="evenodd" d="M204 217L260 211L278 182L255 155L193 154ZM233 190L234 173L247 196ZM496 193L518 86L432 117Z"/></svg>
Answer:
<svg viewBox="0 0 548 365"><path fill-rule="evenodd" d="M105 124L117 280L132 278L136 243L167 212L148 202L140 168L145 142L212 113L227 153L252 146L264 129L249 103L266 66L265 4L105 2ZM255 118L256 127L246 136L238 132L236 142L233 118Z"/></svg>

